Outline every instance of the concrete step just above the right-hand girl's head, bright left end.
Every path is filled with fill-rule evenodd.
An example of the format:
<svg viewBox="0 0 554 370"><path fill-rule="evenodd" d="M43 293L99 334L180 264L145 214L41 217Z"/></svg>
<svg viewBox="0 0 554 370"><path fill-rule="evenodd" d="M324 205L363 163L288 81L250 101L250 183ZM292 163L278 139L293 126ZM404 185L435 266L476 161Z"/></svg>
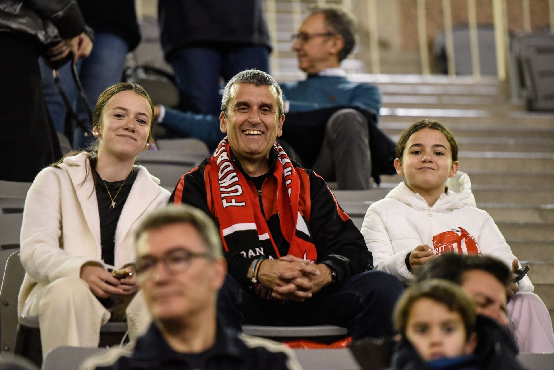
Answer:
<svg viewBox="0 0 554 370"><path fill-rule="evenodd" d="M545 127L554 126L554 116L524 111L505 111L493 114L489 110L479 109L423 109L423 108L381 108L381 122L417 122L433 119L450 127L452 124Z"/></svg>

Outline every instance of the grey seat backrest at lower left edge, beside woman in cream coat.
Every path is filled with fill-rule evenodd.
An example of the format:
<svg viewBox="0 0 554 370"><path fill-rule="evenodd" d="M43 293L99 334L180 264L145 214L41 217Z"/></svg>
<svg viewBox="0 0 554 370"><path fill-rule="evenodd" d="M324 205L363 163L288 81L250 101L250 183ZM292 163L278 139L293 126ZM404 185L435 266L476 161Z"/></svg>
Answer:
<svg viewBox="0 0 554 370"><path fill-rule="evenodd" d="M18 323L17 297L24 276L19 251L16 251L8 258L0 289L0 354L14 353Z"/></svg>

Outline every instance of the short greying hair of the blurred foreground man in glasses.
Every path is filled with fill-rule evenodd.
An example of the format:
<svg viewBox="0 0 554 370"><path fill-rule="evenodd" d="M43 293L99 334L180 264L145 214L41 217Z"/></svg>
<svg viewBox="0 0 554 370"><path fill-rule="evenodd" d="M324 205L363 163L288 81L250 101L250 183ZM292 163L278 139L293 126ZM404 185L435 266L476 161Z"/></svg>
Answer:
<svg viewBox="0 0 554 370"><path fill-rule="evenodd" d="M187 204L169 204L149 212L135 230L135 245L139 243L142 235L150 230L180 223L191 224L196 228L204 244L206 244L210 256L213 258L223 256L223 246L216 224L202 210Z"/></svg>

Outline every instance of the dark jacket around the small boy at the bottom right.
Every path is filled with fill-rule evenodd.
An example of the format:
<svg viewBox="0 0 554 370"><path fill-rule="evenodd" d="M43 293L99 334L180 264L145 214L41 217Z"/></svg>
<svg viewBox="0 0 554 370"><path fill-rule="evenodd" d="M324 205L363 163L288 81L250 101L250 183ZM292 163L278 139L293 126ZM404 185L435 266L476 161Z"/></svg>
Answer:
<svg viewBox="0 0 554 370"><path fill-rule="evenodd" d="M485 316L477 316L475 331L479 342L474 351L473 361L458 363L444 370L478 368L481 370L523 370L516 359L517 347L510 331L496 321ZM392 370L426 370L429 366L423 361L406 338L398 343L392 356Z"/></svg>

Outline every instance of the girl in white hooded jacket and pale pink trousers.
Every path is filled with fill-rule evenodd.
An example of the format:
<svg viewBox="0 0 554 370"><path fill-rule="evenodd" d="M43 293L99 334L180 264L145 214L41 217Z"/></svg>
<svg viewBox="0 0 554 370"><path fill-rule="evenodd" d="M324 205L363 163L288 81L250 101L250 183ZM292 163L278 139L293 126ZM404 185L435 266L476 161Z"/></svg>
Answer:
<svg viewBox="0 0 554 370"><path fill-rule="evenodd" d="M377 270L409 285L418 266L443 253L490 255L512 271L520 268L493 219L476 207L447 127L430 120L409 126L398 140L394 167L405 180L371 205L361 229ZM504 309L520 351L552 352L552 322L533 289L528 276L511 283Z"/></svg>

